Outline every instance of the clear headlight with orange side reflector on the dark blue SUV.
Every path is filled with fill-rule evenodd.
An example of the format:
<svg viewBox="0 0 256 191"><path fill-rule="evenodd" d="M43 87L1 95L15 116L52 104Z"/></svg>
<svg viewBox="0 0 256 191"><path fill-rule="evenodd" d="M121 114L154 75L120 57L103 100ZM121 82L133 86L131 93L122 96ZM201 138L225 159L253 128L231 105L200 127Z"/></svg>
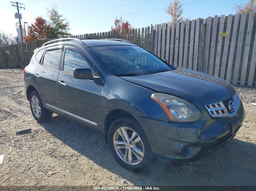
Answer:
<svg viewBox="0 0 256 191"><path fill-rule="evenodd" d="M188 101L167 94L152 94L171 121L192 122L201 118L201 112Z"/></svg>

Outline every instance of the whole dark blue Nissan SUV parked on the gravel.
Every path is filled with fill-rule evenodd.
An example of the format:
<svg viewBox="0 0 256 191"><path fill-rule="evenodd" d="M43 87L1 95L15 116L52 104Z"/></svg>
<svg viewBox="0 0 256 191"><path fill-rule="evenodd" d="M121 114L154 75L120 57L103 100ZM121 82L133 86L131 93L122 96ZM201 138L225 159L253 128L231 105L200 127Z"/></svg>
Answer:
<svg viewBox="0 0 256 191"><path fill-rule="evenodd" d="M135 172L155 157L199 160L233 138L245 116L228 82L113 40L45 43L24 81L38 122L58 113L104 132L115 160Z"/></svg>

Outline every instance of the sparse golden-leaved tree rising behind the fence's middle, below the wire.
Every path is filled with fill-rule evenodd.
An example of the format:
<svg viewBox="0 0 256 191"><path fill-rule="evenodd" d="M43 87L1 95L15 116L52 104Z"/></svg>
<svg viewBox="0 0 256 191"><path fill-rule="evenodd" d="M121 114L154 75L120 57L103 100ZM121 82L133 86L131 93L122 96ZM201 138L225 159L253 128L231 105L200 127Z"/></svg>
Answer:
<svg viewBox="0 0 256 191"><path fill-rule="evenodd" d="M165 12L169 15L171 15L171 22L178 22L185 20L182 16L183 8L182 3L179 0L174 0L170 5L168 5L168 8L165 10Z"/></svg>

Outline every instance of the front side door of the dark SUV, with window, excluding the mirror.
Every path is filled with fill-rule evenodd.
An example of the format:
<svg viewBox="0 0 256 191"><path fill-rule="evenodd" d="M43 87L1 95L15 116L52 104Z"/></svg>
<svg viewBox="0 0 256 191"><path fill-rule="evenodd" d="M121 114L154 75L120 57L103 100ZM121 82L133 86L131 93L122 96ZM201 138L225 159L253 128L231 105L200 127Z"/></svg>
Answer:
<svg viewBox="0 0 256 191"><path fill-rule="evenodd" d="M96 67L85 53L74 46L65 46L62 67L58 76L58 98L61 112L98 128L100 122L101 83L75 79L73 69Z"/></svg>

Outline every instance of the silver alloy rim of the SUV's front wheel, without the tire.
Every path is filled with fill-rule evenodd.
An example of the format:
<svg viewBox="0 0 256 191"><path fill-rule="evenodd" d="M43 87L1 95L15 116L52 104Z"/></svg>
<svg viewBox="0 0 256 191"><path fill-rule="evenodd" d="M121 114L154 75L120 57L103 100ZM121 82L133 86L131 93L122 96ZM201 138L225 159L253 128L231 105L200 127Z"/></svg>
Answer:
<svg viewBox="0 0 256 191"><path fill-rule="evenodd" d="M118 156L127 164L139 164L144 156L144 146L139 135L128 127L120 127L113 138Z"/></svg>

